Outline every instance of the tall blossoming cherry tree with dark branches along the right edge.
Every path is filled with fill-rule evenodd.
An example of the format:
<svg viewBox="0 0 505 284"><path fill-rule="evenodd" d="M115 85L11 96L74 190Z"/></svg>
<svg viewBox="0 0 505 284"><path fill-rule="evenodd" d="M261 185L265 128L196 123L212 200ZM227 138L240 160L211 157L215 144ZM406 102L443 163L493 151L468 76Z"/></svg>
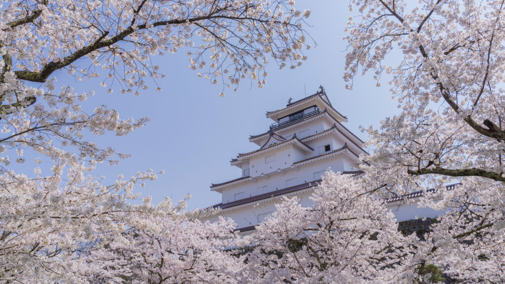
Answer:
<svg viewBox="0 0 505 284"><path fill-rule="evenodd" d="M463 282L503 282L505 96L503 1L352 0L344 78L389 78L401 113L368 129L375 149L362 165L374 195L440 188L450 209L419 243L419 265L434 263ZM385 73L384 73L385 72ZM458 180L458 190L443 183Z"/></svg>

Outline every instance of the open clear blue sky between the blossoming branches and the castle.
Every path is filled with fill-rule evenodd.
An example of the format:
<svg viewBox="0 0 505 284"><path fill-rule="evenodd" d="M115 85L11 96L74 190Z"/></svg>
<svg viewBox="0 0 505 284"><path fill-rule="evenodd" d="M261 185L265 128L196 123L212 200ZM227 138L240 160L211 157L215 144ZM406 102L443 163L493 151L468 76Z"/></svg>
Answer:
<svg viewBox="0 0 505 284"><path fill-rule="evenodd" d="M211 182L241 176L240 169L230 165L230 159L237 153L258 149L248 137L269 129L273 121L266 118L265 112L285 107L289 98L310 96L320 84L335 109L347 116L345 126L365 140L367 135L358 130L360 125L378 126L381 119L398 113L398 109L385 79L381 87L376 87L376 81L367 75L355 80L352 91L345 89L342 74L347 43L342 38L351 15L347 3L296 1L297 10L311 9L307 21L312 27L306 29L318 45L306 52L308 60L294 70L269 65L267 84L262 89L243 81L237 92L230 90L220 97L221 85L198 78L197 71L188 68L183 49L175 55L155 58L160 71L167 74L158 81L161 92L151 85L137 97L119 90L107 93L99 87L99 80L72 83L77 92L96 90L96 96L86 105L107 104L118 110L121 118L150 118L146 126L125 137L88 136L102 147L112 146L132 155L118 166L100 165L94 174L104 175L106 182L112 183L120 173L130 176L150 168L165 170L165 175L141 188L143 195L153 196L153 202L158 203L165 195L180 200L189 193L189 209L220 203L220 194L211 192L209 186Z"/></svg>

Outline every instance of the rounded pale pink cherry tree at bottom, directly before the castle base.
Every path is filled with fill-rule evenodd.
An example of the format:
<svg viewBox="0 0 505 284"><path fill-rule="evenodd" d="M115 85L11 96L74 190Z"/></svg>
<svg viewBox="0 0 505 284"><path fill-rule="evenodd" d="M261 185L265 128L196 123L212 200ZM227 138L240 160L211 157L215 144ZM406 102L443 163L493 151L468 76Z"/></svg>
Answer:
<svg viewBox="0 0 505 284"><path fill-rule="evenodd" d="M400 283L419 278L417 268L409 266L417 237L398 231L385 202L367 195L361 180L326 172L311 199L314 205L306 208L297 198L286 198L256 227L252 243L257 246L244 270L255 283Z"/></svg>

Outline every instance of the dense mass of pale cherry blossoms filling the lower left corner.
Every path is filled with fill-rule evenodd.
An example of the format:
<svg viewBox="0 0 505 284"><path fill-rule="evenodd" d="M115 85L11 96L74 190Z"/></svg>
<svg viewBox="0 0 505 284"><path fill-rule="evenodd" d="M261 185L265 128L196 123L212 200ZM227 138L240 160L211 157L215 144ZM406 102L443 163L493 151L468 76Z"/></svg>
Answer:
<svg viewBox="0 0 505 284"><path fill-rule="evenodd" d="M21 179L25 182L21 183ZM139 173L111 186L82 169L55 178L13 176L0 204L0 280L4 283L233 283L243 257L232 220L201 223L186 201L159 205L139 197Z"/></svg>

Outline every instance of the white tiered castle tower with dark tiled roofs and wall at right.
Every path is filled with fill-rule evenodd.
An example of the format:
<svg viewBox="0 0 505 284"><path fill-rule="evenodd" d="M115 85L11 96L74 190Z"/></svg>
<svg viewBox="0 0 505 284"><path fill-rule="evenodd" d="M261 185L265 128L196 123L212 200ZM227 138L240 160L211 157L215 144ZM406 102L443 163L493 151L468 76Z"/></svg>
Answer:
<svg viewBox="0 0 505 284"><path fill-rule="evenodd" d="M213 206L221 211L204 220L230 217L238 230L251 231L284 196L297 196L302 206L311 206L309 197L314 186L329 168L353 176L363 173L356 165L359 155L367 154L362 148L364 142L342 125L347 118L333 108L322 86L312 96L296 102L290 99L285 108L267 112L267 117L274 120L270 129L249 137L260 148L231 159L231 165L239 167L242 176L211 185L212 191L222 195L222 202ZM421 194L413 193L408 198ZM402 200L387 201L398 221L440 214L401 205Z"/></svg>

